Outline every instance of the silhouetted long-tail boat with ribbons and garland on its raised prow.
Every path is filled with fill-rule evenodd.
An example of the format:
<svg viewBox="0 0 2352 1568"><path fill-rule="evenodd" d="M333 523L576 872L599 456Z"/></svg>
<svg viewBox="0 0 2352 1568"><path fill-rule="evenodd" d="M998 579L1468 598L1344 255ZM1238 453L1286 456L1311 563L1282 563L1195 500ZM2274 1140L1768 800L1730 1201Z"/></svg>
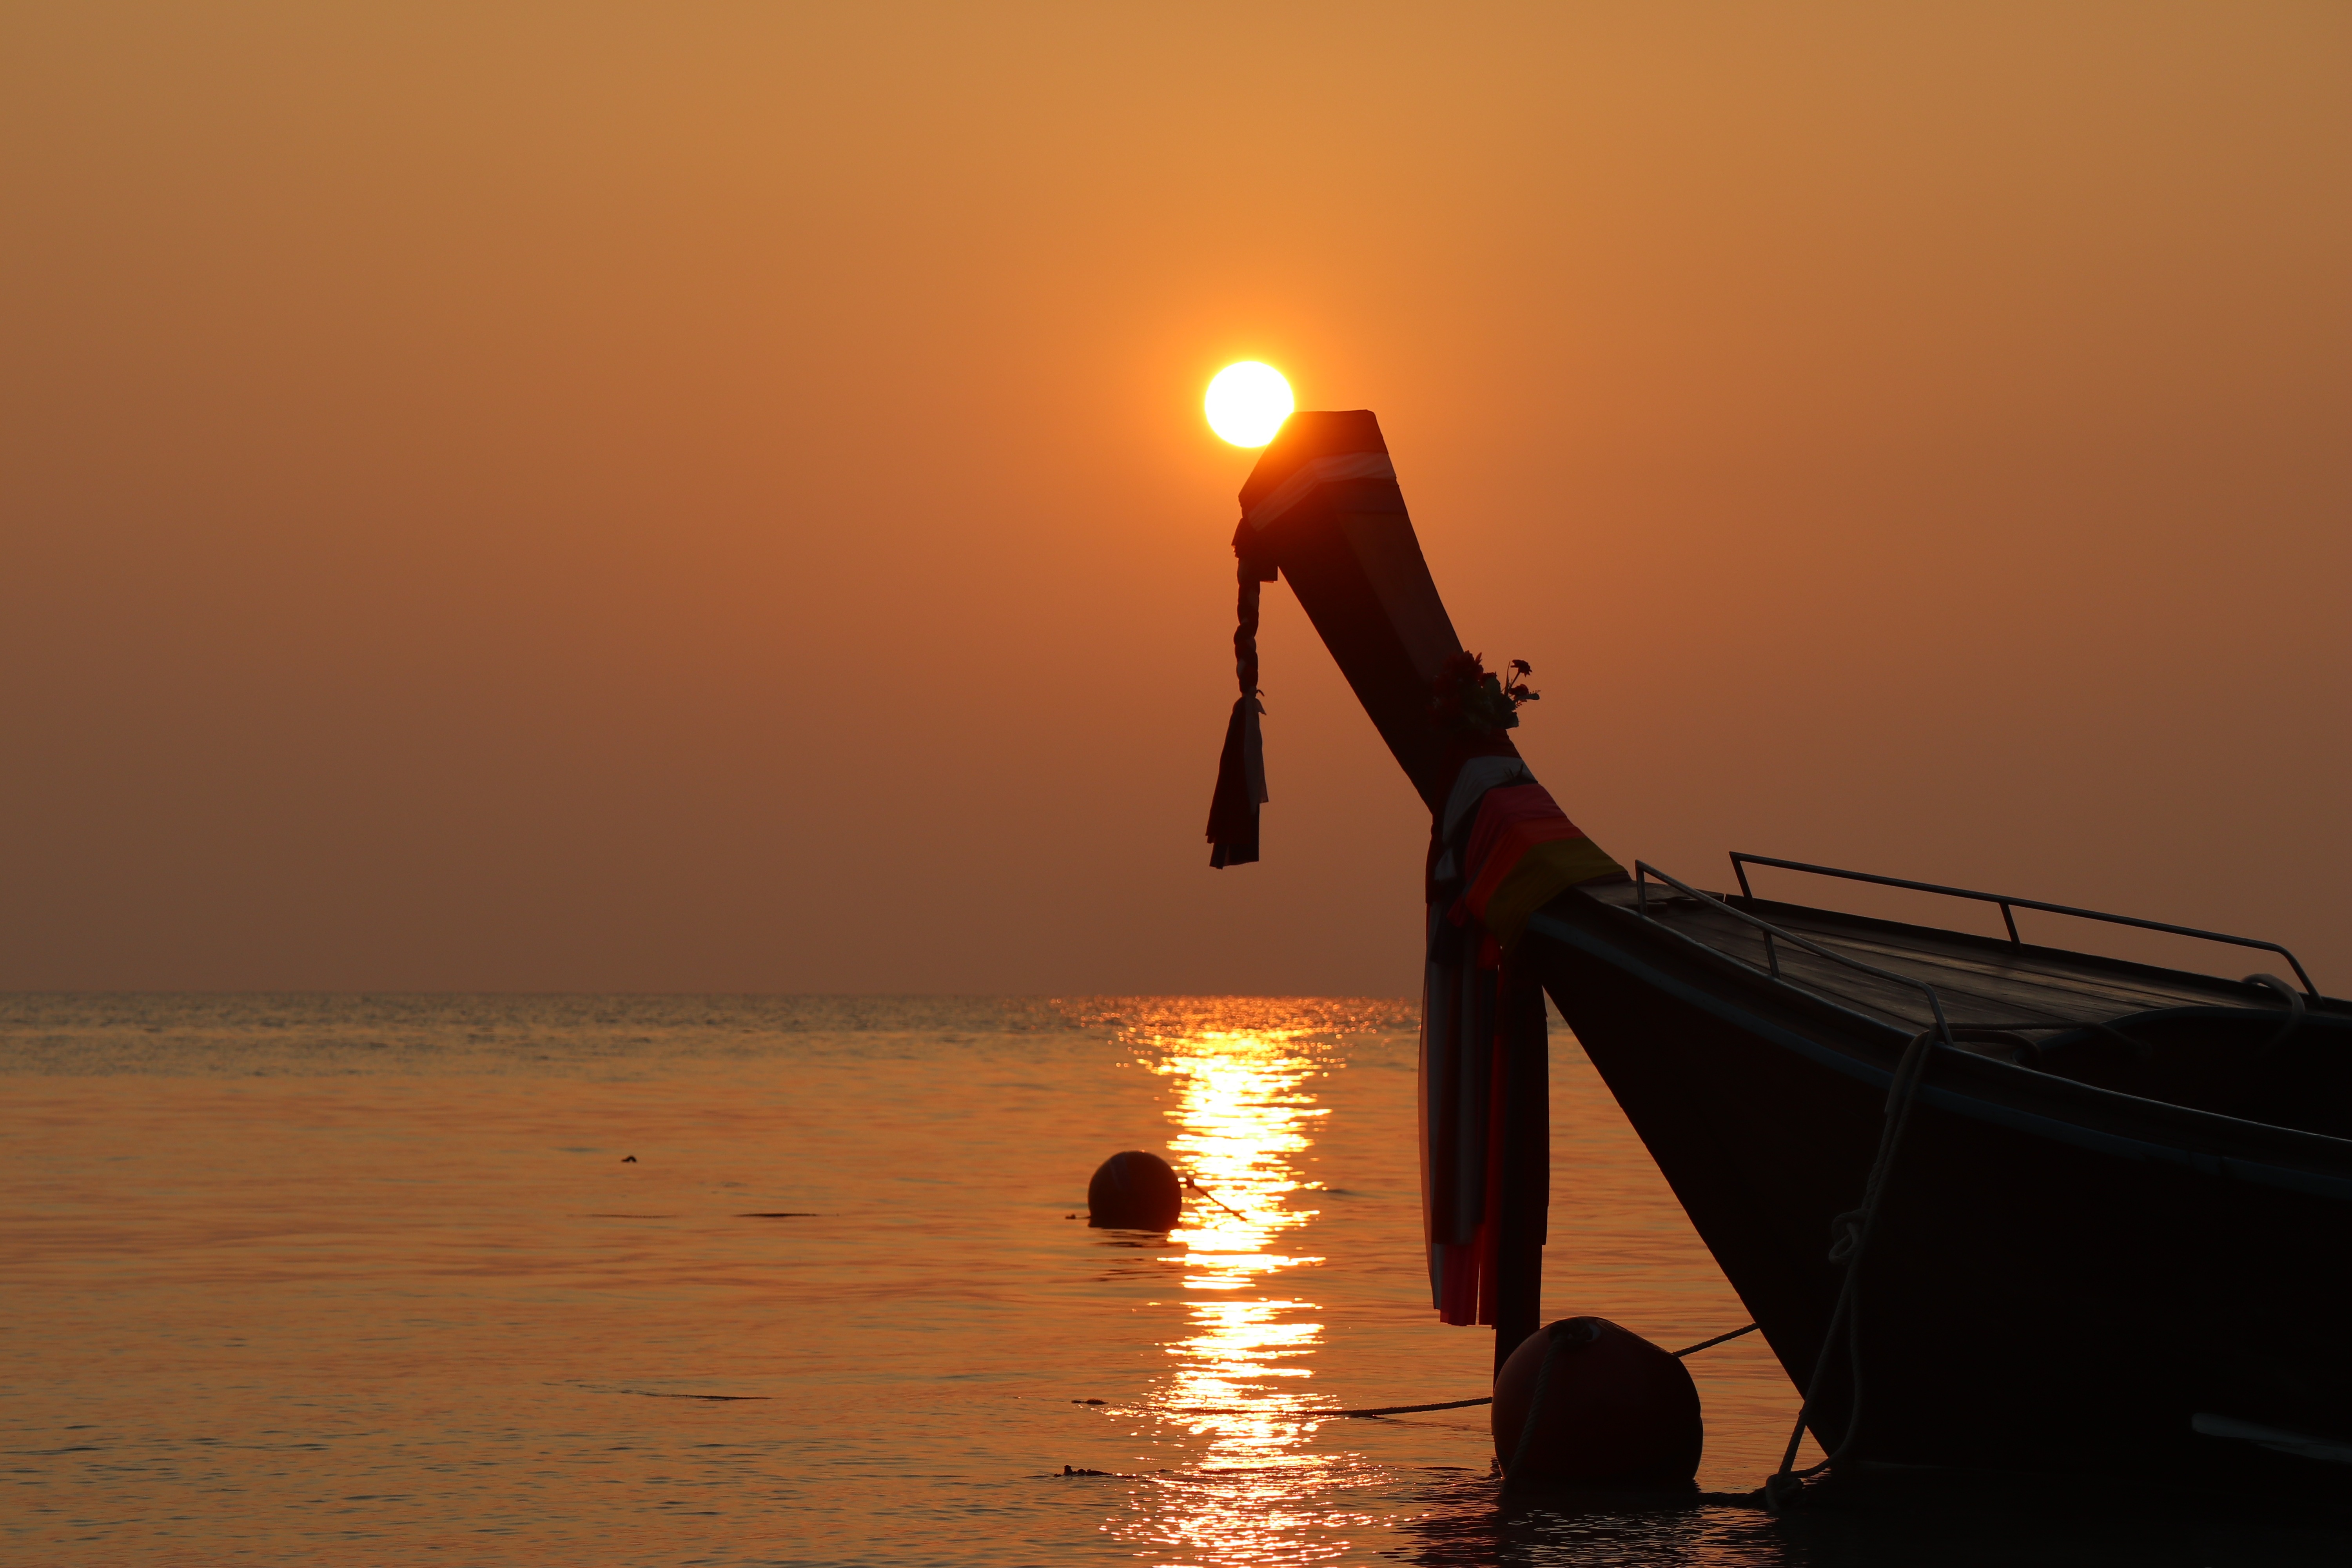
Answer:
<svg viewBox="0 0 2352 1568"><path fill-rule="evenodd" d="M1444 1321L1496 1326L1496 1366L1538 1326L1550 994L1802 1389L1813 1490L2352 1493L2352 1004L2286 947L1748 853L1736 891L1618 863L1512 748L1524 686L1463 651L1369 411L1291 416L1235 555L1211 863L1258 858L1279 574L1430 809L1430 1286ZM1759 867L1994 905L2004 936L1766 898ZM2020 912L2286 976L2051 947Z"/></svg>

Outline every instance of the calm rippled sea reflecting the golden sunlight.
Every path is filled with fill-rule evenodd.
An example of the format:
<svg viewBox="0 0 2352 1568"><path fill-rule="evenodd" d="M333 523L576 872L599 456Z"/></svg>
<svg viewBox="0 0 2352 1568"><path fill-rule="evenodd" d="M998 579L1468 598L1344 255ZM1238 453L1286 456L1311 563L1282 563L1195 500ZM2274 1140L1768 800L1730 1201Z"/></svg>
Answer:
<svg viewBox="0 0 2352 1568"><path fill-rule="evenodd" d="M1555 1025L1545 1316L1745 1321ZM1501 1509L1385 1001L0 997L9 1563L2343 1561ZM1225 1208L1089 1229L1148 1147ZM1700 1483L1771 1469L1759 1340ZM1096 1403L1098 1401L1098 1403ZM1108 1472L1070 1476L1063 1467Z"/></svg>

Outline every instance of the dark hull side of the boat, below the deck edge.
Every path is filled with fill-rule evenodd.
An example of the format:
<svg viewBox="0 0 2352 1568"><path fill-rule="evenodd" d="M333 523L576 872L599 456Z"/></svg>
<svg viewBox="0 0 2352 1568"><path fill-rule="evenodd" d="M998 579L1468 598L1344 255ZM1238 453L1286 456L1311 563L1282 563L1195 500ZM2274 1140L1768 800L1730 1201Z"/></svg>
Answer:
<svg viewBox="0 0 2352 1568"><path fill-rule="evenodd" d="M1524 954L1797 1387L1905 1037L1569 893ZM1573 1201L1569 1175L1564 1201ZM2352 1143L1938 1048L1858 1281L1853 1467L2338 1490ZM1813 1399L1837 1446L1846 1352Z"/></svg>

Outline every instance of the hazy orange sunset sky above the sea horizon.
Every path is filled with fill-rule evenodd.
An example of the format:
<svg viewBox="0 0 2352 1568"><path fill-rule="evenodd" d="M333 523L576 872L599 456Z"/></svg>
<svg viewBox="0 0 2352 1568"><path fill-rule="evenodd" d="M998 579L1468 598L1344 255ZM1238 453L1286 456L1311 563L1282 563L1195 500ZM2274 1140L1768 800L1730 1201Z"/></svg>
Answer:
<svg viewBox="0 0 2352 1568"><path fill-rule="evenodd" d="M5 987L1416 990L1263 357L1621 858L2352 992L2340 5L26 0L0 197Z"/></svg>

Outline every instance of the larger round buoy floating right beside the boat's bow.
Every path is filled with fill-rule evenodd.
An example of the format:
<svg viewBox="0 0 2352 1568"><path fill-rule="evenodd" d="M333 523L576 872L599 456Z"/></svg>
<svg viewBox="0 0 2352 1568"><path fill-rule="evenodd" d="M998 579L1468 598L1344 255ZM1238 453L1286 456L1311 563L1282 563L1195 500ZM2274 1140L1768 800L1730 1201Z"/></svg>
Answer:
<svg viewBox="0 0 2352 1568"><path fill-rule="evenodd" d="M1543 1408L1529 1429L1538 1378ZM1494 1453L1515 1483L1689 1486L1703 1443L1689 1368L1604 1316L1531 1333L1494 1380Z"/></svg>

